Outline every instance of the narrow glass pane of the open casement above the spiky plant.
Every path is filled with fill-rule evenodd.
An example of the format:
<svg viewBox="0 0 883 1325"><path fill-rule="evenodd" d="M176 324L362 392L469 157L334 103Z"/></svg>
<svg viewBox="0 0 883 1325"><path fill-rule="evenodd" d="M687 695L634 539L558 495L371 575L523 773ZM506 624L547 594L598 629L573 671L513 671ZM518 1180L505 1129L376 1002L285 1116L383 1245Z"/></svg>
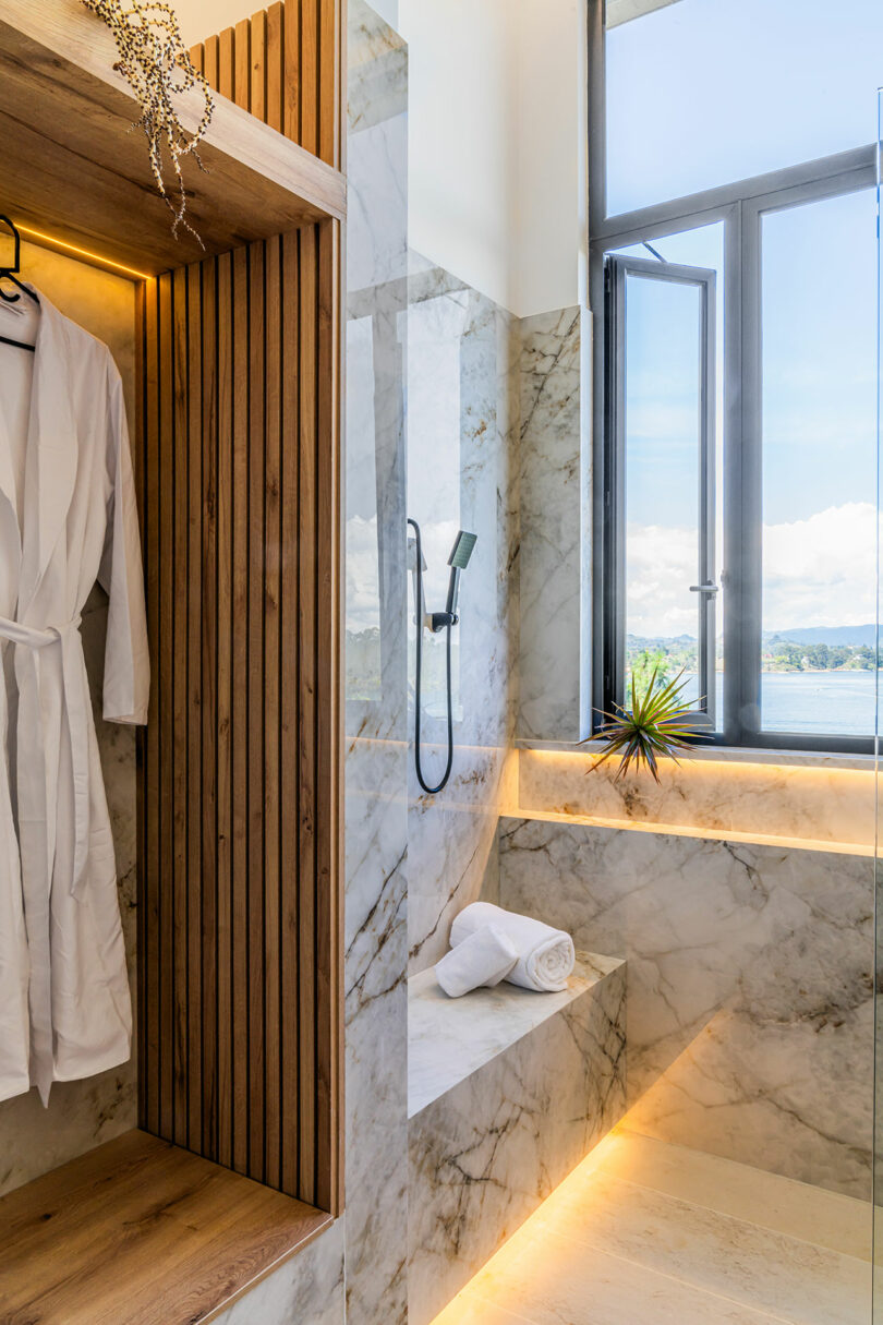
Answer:
<svg viewBox="0 0 883 1325"><path fill-rule="evenodd" d="M626 678L659 665L700 698L700 292L626 277Z"/></svg>

